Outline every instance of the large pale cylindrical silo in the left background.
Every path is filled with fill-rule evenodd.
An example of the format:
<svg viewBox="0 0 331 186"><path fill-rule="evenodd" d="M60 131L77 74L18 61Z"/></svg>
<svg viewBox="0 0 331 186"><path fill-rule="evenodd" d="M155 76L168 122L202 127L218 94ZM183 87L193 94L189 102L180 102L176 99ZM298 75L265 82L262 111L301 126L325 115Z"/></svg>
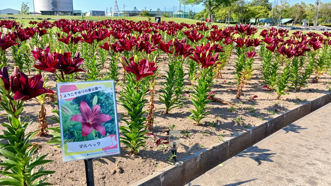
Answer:
<svg viewBox="0 0 331 186"><path fill-rule="evenodd" d="M42 15L72 15L72 0L33 0L34 12Z"/></svg>

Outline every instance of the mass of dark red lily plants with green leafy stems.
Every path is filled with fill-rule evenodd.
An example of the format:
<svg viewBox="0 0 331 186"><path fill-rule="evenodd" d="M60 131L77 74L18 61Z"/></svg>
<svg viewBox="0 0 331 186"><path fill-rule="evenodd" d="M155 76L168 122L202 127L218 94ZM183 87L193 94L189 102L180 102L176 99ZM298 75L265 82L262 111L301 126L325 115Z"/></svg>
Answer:
<svg viewBox="0 0 331 186"><path fill-rule="evenodd" d="M61 19L53 23L30 21L26 27L15 21L0 21L0 105L6 112L3 116L9 119L9 125L2 124L8 130L0 135L0 139L8 141L0 143L1 156L6 157L0 163L5 167L0 172L4 176L0 185L51 185L39 178L54 171L44 171L43 166L34 170L50 162L44 160L47 155L33 156L38 145L30 147L34 135L48 132L54 135L48 143L61 144L59 128L47 126L44 103L54 96L47 86L49 77L57 82L115 80L118 102L127 111L121 118L125 125L120 126L120 142L131 153L139 153L147 138L157 138L152 134L155 99L163 103L162 110L168 114L183 104L185 96L189 97L194 109L189 109L188 118L194 125L208 116L210 101L231 104L211 91L215 79L222 78L231 55L235 56L236 99L256 77L255 70L261 71L264 88L275 91L277 99L281 99L288 90L300 91L309 80L322 81L323 74L331 68L330 32L296 31L289 35L288 30L270 28L257 35L257 31L250 25L218 27L199 22ZM14 65L9 63L9 55ZM262 61L259 67L255 64L257 58ZM160 75L160 67L164 66L166 74ZM156 94L158 84L162 85L160 94ZM185 94L185 84L193 86L192 93ZM25 134L32 121L20 115L30 99L41 109L38 129ZM83 106L91 110L87 104ZM58 114L56 110L52 112ZM78 118L71 118L81 120L75 117ZM59 121L58 117L49 119ZM92 130L105 136L101 121L95 127L83 123L82 137ZM161 140L156 140L156 145L168 143Z"/></svg>

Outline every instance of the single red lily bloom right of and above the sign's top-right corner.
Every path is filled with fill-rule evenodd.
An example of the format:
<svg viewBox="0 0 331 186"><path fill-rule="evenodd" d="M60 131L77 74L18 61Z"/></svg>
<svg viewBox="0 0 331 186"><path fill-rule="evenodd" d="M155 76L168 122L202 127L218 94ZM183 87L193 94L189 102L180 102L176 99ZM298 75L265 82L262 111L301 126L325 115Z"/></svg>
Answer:
<svg viewBox="0 0 331 186"><path fill-rule="evenodd" d="M130 64L128 67L125 67L127 72L131 72L136 75L136 80L139 81L143 77L154 74L149 68L149 63L146 59L142 59L137 63L134 62L134 57L130 58Z"/></svg>

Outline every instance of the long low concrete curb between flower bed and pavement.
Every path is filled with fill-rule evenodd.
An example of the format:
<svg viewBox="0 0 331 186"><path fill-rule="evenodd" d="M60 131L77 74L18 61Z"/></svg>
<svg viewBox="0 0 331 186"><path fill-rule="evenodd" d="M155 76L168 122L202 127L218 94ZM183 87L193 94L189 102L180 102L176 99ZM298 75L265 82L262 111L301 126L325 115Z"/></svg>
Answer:
<svg viewBox="0 0 331 186"><path fill-rule="evenodd" d="M225 142L215 143L130 186L183 186L218 164L225 162L288 124L330 102L331 93L307 101L303 105L270 118L258 126L241 131L235 136L225 137Z"/></svg>

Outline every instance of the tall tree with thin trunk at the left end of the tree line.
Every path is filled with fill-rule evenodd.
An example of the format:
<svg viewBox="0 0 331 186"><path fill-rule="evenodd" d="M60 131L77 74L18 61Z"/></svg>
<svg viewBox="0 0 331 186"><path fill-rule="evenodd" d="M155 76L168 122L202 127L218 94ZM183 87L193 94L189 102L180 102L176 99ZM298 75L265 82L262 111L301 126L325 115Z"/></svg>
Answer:
<svg viewBox="0 0 331 186"><path fill-rule="evenodd" d="M212 19L212 12L221 6L227 6L231 0L179 0L184 5L200 5L203 4L208 8L208 19Z"/></svg>

